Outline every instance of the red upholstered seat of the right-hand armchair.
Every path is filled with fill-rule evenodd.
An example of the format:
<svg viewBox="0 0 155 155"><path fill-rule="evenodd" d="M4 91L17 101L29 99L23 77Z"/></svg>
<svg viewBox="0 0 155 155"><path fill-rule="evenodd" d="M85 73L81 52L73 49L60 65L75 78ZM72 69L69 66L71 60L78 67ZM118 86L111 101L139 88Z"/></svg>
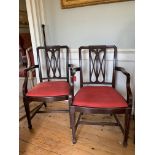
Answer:
<svg viewBox="0 0 155 155"><path fill-rule="evenodd" d="M125 99L112 87L86 86L75 95L73 105L98 108L127 107Z"/></svg>

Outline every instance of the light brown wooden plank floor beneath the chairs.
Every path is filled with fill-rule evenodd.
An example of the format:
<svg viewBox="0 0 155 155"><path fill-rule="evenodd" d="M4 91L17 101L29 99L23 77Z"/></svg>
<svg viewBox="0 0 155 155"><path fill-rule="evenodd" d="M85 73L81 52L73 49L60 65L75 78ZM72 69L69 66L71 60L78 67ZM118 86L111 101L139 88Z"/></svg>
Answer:
<svg viewBox="0 0 155 155"><path fill-rule="evenodd" d="M22 105L20 100L20 107ZM37 103L33 103L31 107ZM67 108L67 104L57 102L48 108ZM20 108L20 116L24 115ZM91 116L84 116L83 119ZM110 120L109 115L93 115L94 120ZM122 122L122 116L119 117ZM111 119L113 120L113 119ZM134 121L131 120L128 147L122 146L123 135L119 127L80 125L72 144L68 113L36 114L32 119L33 129L27 128L26 118L19 122L20 155L134 155Z"/></svg>

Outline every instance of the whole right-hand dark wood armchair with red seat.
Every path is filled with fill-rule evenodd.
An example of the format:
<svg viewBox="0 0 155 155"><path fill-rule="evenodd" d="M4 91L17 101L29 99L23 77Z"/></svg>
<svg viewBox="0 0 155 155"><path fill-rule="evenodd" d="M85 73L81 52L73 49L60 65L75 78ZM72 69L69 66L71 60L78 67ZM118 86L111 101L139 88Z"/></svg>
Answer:
<svg viewBox="0 0 155 155"><path fill-rule="evenodd" d="M124 135L123 145L127 146L132 93L130 74L124 68L117 67L117 47L106 45L81 46L79 48L79 65L80 67L71 68L72 92L74 91L74 76L77 71L80 72L80 89L75 96L72 93L69 99L73 144L76 143L78 125L87 124L119 126ZM116 72L121 72L126 77L126 99L115 88ZM78 113L76 119L75 116ZM114 116L116 122L81 120L84 114L110 114L109 116ZM124 127L117 114L124 114Z"/></svg>

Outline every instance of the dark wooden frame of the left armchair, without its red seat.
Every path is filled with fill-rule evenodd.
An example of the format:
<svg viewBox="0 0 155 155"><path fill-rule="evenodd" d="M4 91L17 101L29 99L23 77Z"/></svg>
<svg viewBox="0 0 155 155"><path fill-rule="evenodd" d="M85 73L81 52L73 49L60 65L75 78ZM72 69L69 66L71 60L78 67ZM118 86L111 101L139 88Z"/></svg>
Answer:
<svg viewBox="0 0 155 155"><path fill-rule="evenodd" d="M65 60L65 66L62 63L61 54L63 52L63 60ZM28 73L33 69L39 69L40 82L52 81L52 80L65 80L69 83L69 68L72 65L69 65L69 48L68 46L44 46L37 47L37 56L38 56L38 65L31 66L25 69L25 80L23 84L23 102L25 106L28 127L31 129L31 119L35 116L36 113L45 113L45 112L56 112L56 110L45 110L40 111L40 108L44 105L47 106L47 102L53 101L63 101L68 100L69 95L64 96L27 96L28 92ZM42 58L42 59L41 59ZM44 59L43 59L44 58ZM42 63L44 62L46 69L42 70ZM63 68L62 68L63 67ZM64 68L66 68L64 70ZM43 74L44 71L44 74ZM46 71L46 72L45 72ZM63 72L65 73L63 73ZM72 92L70 92L72 93ZM41 102L33 111L30 112L30 103L32 101ZM57 112L69 112L69 110L57 110Z"/></svg>

